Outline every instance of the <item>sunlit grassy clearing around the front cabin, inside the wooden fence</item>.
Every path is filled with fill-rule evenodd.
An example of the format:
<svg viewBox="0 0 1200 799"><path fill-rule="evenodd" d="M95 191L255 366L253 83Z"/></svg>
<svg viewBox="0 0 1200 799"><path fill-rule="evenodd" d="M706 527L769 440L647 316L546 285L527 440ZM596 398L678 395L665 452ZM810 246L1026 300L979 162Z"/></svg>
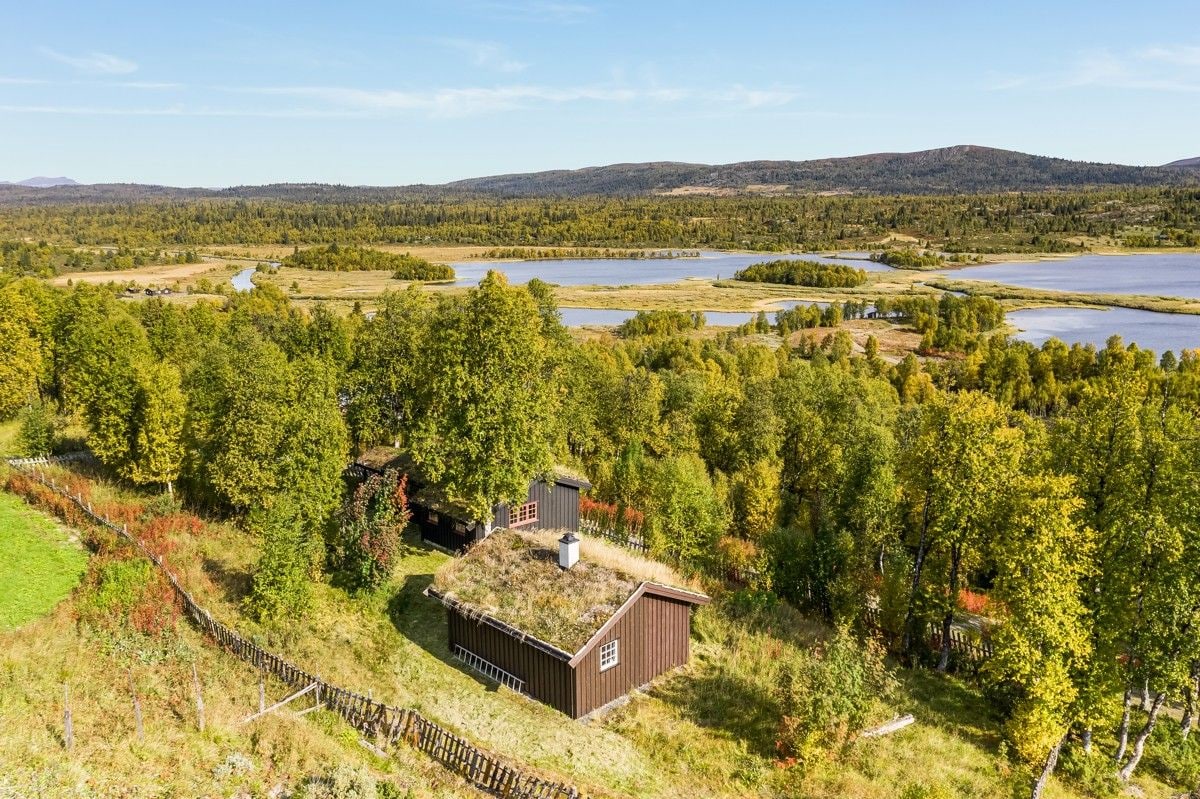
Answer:
<svg viewBox="0 0 1200 799"><path fill-rule="evenodd" d="M98 486L94 501L121 494ZM578 723L476 679L450 657L444 609L421 594L448 555L409 540L391 583L356 596L318 584L310 615L275 630L259 627L239 612L256 558L254 542L229 525L209 525L204 535L180 541L172 555L185 582L217 618L326 679L416 708L497 753L571 779L592 797L1003 799L1012 792L1013 775L1000 753L998 721L988 703L970 685L919 672L902 674L900 696L890 708L890 713L913 713L916 725L860 741L841 761L821 764L806 776L778 769L774 733L781 709L770 689L780 654L788 647L809 647L824 635L820 625L786 607L752 618L739 618L725 602L701 609L686 669L636 693L602 719ZM240 672L211 647L197 643L196 648L210 663L205 669ZM182 697L176 698L176 713L185 719L187 679L186 673L162 677L163 690ZM43 696L53 702L61 687L54 678L49 683ZM232 683L235 707L245 708L253 679ZM114 690L119 697L119 686ZM216 763L218 755L208 762ZM418 756L404 755L415 768L410 758ZM1139 785L1147 797L1170 795L1146 774ZM1052 782L1048 795L1081 794Z"/></svg>

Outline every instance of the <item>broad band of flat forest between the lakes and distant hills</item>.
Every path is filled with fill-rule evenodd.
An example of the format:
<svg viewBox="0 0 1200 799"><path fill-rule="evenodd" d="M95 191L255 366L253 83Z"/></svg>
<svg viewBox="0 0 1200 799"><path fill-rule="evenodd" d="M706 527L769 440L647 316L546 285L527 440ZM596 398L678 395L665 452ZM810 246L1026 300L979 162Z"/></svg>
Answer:
<svg viewBox="0 0 1200 799"><path fill-rule="evenodd" d="M0 206L0 239L52 245L478 245L833 250L893 233L948 252L1067 252L1068 239L1200 244L1200 190L955 197L659 197L396 202L83 203Z"/></svg>

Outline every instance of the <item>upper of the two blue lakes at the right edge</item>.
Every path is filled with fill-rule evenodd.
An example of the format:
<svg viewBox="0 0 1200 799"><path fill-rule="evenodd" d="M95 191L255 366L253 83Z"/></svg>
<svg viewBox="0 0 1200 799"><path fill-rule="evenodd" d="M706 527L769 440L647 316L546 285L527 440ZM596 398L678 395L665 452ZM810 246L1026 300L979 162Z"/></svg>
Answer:
<svg viewBox="0 0 1200 799"><path fill-rule="evenodd" d="M1058 292L1200 299L1200 253L1078 256L966 266L937 274L953 280L991 281Z"/></svg>

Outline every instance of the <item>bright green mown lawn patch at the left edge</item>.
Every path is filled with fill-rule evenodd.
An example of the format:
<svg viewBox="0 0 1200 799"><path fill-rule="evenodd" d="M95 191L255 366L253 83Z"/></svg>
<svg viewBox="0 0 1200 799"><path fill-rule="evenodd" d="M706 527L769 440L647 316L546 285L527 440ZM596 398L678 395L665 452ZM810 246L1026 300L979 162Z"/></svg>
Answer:
<svg viewBox="0 0 1200 799"><path fill-rule="evenodd" d="M48 613L79 584L86 563L49 517L0 493L0 631Z"/></svg>

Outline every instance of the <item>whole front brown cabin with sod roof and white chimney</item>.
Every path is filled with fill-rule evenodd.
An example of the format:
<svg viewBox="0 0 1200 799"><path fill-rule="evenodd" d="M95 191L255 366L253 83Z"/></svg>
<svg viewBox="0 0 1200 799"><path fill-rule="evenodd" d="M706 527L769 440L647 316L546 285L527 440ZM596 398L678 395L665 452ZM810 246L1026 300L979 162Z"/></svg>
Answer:
<svg viewBox="0 0 1200 799"><path fill-rule="evenodd" d="M602 541L499 530L426 594L446 608L455 657L580 719L688 662L691 608L708 597L680 584Z"/></svg>

